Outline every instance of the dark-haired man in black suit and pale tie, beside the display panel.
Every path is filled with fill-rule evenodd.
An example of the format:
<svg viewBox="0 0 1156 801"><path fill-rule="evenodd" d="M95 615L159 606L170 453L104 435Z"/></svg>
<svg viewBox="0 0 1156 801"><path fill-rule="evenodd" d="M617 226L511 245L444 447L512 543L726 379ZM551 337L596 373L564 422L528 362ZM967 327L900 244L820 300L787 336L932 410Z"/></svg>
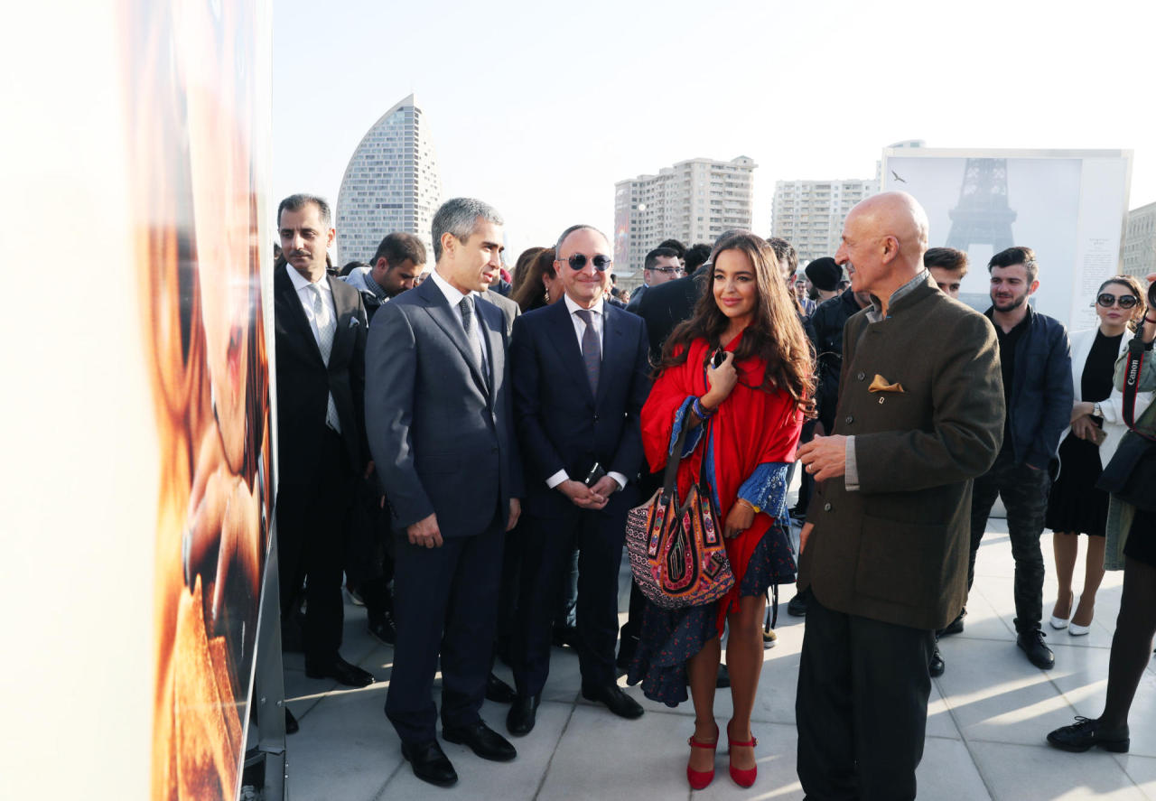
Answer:
<svg viewBox="0 0 1156 801"><path fill-rule="evenodd" d="M277 555L282 614L307 578L305 674L365 687L373 676L344 661L341 570L355 479L369 457L362 430L365 309L329 276L336 231L321 198L295 194L277 208L288 264L273 276L277 374Z"/></svg>

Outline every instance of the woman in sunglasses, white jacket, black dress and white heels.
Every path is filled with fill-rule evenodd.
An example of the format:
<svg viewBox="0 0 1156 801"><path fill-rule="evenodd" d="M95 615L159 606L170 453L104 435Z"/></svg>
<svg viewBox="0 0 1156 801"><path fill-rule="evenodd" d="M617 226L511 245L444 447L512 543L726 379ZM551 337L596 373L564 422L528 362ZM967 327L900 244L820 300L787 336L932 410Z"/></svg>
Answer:
<svg viewBox="0 0 1156 801"><path fill-rule="evenodd" d="M1107 494L1096 489L1096 481L1127 430L1122 420L1122 395L1112 387L1112 372L1117 357L1127 348L1143 319L1144 292L1131 275L1113 276L1101 284L1095 306L1099 327L1070 336L1075 388L1072 428L1060 444L1060 475L1052 485L1045 518L1046 527L1054 532L1052 546L1059 583L1051 624L1053 629L1066 628L1073 637L1088 633L1096 608L1096 591L1104 578ZM1075 605L1072 574L1080 534L1088 535L1088 554L1083 592L1080 603Z"/></svg>

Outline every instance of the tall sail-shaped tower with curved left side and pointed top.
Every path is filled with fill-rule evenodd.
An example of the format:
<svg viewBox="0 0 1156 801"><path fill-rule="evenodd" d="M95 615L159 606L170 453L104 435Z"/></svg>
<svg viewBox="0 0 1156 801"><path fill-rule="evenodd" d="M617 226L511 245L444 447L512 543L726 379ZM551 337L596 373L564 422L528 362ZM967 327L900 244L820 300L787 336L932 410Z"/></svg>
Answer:
<svg viewBox="0 0 1156 801"><path fill-rule="evenodd" d="M381 114L346 166L335 225L342 262L369 261L386 233L406 231L425 243L442 205L442 177L433 142L414 96Z"/></svg>

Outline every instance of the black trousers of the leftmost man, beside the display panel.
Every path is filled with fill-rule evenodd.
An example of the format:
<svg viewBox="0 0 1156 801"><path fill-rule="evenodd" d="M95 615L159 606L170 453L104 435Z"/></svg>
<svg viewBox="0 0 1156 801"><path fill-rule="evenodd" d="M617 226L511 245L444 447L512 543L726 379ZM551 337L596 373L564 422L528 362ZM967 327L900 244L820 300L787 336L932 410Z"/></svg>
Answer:
<svg viewBox="0 0 1156 801"><path fill-rule="evenodd" d="M327 430L321 443L320 480L279 487L276 511L281 614L287 618L297 608L305 584L305 662L318 666L331 662L341 647L341 572L354 492L341 436Z"/></svg>

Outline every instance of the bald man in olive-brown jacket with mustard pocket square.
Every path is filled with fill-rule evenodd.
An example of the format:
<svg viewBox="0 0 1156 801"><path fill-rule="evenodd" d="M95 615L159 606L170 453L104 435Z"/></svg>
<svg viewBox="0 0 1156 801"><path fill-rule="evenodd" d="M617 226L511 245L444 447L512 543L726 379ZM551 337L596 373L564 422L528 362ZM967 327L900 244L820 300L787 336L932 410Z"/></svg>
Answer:
<svg viewBox="0 0 1156 801"><path fill-rule="evenodd" d="M873 304L843 333L835 433L799 450L816 480L795 719L813 799L913 799L935 629L966 594L969 479L1003 432L995 331L922 268L927 216L889 192L855 206L836 259Z"/></svg>

